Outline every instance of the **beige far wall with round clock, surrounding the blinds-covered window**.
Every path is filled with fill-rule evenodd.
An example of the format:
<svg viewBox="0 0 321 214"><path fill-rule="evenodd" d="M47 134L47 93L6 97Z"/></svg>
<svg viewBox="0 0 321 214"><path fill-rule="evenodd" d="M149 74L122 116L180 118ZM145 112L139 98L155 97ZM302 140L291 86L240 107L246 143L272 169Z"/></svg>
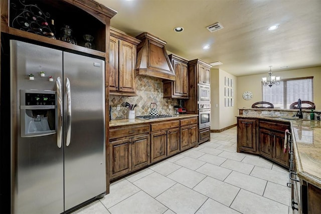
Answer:
<svg viewBox="0 0 321 214"><path fill-rule="evenodd" d="M272 70L273 72L273 70ZM249 75L237 77L237 92L238 98L237 107L251 107L253 103L262 101L262 77L267 76L268 71L265 74ZM280 76L281 79L296 78L296 77L311 77L313 76L314 83L314 103L316 109L321 109L321 67L296 69L282 72L273 72L273 75ZM272 86L273 87L273 86ZM251 100L244 100L242 94L245 91L251 91L253 98Z"/></svg>

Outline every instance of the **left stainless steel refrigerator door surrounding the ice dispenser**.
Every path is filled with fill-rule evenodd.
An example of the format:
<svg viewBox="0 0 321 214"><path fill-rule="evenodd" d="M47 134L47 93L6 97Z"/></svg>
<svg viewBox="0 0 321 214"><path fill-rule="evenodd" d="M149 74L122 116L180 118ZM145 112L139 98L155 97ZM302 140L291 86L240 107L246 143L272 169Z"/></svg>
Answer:
<svg viewBox="0 0 321 214"><path fill-rule="evenodd" d="M64 211L63 148L57 146L57 134L22 137L20 129L26 112L21 91L55 91L56 82L50 82L48 75L55 79L62 76L62 51L11 40L10 52L12 119L8 125L11 122L12 213L61 213ZM46 72L45 77L40 76L41 71ZM35 75L34 80L29 80L30 73ZM34 117L30 123L46 118L42 113L45 110L29 111L32 112L29 116L44 116Z"/></svg>

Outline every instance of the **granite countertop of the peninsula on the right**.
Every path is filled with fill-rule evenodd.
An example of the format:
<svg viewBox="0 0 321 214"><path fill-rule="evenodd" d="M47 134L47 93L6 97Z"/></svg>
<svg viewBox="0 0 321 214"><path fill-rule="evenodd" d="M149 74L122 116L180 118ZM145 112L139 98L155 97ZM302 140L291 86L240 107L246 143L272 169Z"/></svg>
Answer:
<svg viewBox="0 0 321 214"><path fill-rule="evenodd" d="M301 179L321 188L321 122L291 117L243 116L290 122L296 172Z"/></svg>

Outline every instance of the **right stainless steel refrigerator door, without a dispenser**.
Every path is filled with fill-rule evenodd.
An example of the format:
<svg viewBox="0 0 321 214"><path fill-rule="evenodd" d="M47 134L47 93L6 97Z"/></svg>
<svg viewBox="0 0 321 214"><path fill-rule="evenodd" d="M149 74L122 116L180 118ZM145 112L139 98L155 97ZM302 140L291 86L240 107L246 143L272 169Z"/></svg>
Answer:
<svg viewBox="0 0 321 214"><path fill-rule="evenodd" d="M64 52L65 210L106 191L105 64Z"/></svg>

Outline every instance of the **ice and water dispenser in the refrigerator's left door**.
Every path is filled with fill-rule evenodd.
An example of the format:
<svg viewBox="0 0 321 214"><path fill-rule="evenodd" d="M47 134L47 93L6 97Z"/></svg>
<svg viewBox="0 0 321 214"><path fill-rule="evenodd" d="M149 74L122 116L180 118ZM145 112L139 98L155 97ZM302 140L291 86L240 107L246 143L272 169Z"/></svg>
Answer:
<svg viewBox="0 0 321 214"><path fill-rule="evenodd" d="M21 137L56 133L56 91L21 90Z"/></svg>

